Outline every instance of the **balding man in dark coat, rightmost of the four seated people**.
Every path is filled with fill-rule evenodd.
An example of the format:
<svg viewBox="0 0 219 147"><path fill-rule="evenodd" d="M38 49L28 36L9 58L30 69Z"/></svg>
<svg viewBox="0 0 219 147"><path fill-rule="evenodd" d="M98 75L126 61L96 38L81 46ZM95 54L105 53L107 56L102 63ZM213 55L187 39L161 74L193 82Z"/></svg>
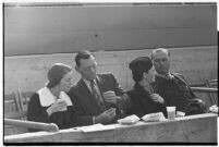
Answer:
<svg viewBox="0 0 219 147"><path fill-rule="evenodd" d="M157 91L165 103L175 106L178 111L183 111L186 115L205 113L205 102L196 98L184 76L170 72L170 52L165 48L155 49L151 59L157 72Z"/></svg>

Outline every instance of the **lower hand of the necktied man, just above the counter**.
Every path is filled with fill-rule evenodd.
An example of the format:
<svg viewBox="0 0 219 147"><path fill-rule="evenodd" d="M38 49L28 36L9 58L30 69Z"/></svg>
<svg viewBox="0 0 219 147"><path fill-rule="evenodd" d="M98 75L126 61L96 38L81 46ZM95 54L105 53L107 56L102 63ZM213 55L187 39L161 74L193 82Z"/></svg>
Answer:
<svg viewBox="0 0 219 147"><path fill-rule="evenodd" d="M110 108L95 118L95 123L110 123L115 117L115 108Z"/></svg>

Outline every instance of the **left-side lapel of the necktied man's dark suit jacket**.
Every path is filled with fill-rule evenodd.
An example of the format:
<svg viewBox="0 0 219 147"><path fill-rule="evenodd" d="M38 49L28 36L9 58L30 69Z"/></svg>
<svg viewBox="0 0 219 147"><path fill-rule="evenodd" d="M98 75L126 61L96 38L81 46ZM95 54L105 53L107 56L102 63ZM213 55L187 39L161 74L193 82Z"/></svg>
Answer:
<svg viewBox="0 0 219 147"><path fill-rule="evenodd" d="M81 79L77 84L78 88L78 95L80 97L80 101L82 103L82 106L90 113L98 113L98 109L97 109L97 103L94 100L94 97L90 93L90 90L88 89L88 87L86 86L86 84L84 83L83 79Z"/></svg>

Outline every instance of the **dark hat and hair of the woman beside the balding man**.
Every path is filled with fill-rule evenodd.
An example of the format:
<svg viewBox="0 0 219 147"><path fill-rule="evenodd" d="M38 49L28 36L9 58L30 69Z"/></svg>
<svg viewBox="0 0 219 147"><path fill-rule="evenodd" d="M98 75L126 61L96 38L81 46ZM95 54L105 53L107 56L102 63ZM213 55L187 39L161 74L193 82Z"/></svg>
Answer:
<svg viewBox="0 0 219 147"><path fill-rule="evenodd" d="M129 68L132 70L133 79L139 82L143 78L143 73L148 73L153 68L153 62L149 57L139 57L131 61Z"/></svg>

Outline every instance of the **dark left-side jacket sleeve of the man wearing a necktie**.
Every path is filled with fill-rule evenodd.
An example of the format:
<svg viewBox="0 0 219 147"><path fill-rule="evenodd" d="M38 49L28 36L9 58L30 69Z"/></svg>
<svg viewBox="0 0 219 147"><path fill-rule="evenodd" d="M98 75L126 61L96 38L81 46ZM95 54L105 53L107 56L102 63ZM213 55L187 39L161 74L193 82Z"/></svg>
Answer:
<svg viewBox="0 0 219 147"><path fill-rule="evenodd" d="M78 97L73 91L68 93L68 95L74 103L74 110L75 110L74 117L76 118L75 121L76 125L77 126L92 125L94 115L84 115L83 107L78 101Z"/></svg>

